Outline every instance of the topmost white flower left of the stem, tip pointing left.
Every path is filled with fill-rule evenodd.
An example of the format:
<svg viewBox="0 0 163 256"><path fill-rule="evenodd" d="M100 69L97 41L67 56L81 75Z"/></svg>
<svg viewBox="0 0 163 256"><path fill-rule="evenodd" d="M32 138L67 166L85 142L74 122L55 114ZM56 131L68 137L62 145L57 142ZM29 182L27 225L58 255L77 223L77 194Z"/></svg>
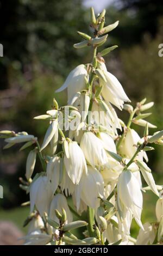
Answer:
<svg viewBox="0 0 163 256"><path fill-rule="evenodd" d="M85 89L85 76L87 76L87 70L84 64L77 66L67 76L65 83L59 88L56 93L62 92L67 88L68 102L72 97L81 90Z"/></svg>

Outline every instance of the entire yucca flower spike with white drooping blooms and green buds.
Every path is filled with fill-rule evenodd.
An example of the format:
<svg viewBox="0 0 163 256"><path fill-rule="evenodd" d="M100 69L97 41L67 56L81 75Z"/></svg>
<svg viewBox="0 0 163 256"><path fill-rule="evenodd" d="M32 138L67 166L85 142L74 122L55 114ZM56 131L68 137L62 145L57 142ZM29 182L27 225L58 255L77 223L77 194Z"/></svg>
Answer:
<svg viewBox="0 0 163 256"><path fill-rule="evenodd" d="M52 109L34 118L49 123L41 147L37 138L26 132L1 131L7 142L4 148L16 143L25 143L20 150L32 148L27 157L26 180L21 179L21 188L30 196L30 214L24 223L29 225L23 237L26 245L163 242L163 186L155 184L147 166L147 151L154 150L152 143L163 145L163 131L149 136L148 128L155 126L145 120L151 113L144 111L153 102L144 99L133 108L121 83L106 69L103 57L117 46L97 53L118 21L104 24L105 10L96 17L91 8L94 37L78 32L84 40L74 47L93 48L92 63L78 65L57 90L67 89L66 106L59 107L53 99ZM129 113L127 124L117 117L116 108ZM131 128L132 123L145 127L142 138ZM37 155L42 170L34 175ZM142 178L147 187L142 187ZM143 193L148 190L158 197L157 220L142 224ZM74 216L77 221L73 221ZM133 218L140 227L137 239L130 236ZM86 227L83 240L71 233L80 227Z"/></svg>

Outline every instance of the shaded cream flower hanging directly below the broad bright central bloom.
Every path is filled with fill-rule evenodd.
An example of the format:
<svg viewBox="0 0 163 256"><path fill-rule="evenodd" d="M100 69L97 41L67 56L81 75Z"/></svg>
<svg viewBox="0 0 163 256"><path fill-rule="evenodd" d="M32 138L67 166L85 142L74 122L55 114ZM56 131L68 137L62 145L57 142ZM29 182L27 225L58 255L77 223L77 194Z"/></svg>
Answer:
<svg viewBox="0 0 163 256"><path fill-rule="evenodd" d="M87 166L87 175L84 173L75 190L77 210L79 210L80 199L93 209L99 206L99 197L104 199L104 181L101 173L91 166Z"/></svg>

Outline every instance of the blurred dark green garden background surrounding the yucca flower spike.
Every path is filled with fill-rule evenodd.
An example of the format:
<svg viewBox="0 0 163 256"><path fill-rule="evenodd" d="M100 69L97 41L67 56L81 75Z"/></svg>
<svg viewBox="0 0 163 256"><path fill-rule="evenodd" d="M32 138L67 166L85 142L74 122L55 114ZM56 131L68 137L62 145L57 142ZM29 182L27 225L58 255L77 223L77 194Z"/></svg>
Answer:
<svg viewBox="0 0 163 256"><path fill-rule="evenodd" d="M0 130L27 131L42 142L47 124L33 117L51 108L55 89L68 72L91 60L90 49L73 48L80 41L76 31L91 32L86 6L91 2L97 10L96 0L84 2L85 5L80 0L0 1L0 43L4 47L4 57L0 58ZM119 46L105 58L106 66L121 81L133 105L145 96L155 102L148 120L161 130L163 57L158 56L158 46L163 43L163 4L158 0L117 0L109 7L105 4L105 8L107 24L120 21L105 44ZM60 105L66 102L65 92L55 97ZM124 111L118 115L124 120L128 118ZM142 135L142 128L133 127ZM22 224L29 209L20 208L20 204L29 198L18 187L18 177L24 176L28 150L2 150L3 147L1 140L0 185L4 198L0 199L0 221L13 221L25 232ZM163 184L162 153L162 148L156 147L148 154L157 184ZM36 169L40 168L37 163ZM155 202L156 197L147 192L143 222L155 220ZM133 224L134 235L137 230Z"/></svg>

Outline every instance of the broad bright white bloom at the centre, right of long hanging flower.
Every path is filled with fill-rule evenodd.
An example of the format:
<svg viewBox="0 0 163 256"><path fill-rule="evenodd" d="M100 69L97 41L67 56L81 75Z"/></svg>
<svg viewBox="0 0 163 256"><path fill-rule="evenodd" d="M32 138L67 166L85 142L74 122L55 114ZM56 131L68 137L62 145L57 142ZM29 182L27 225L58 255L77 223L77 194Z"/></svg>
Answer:
<svg viewBox="0 0 163 256"><path fill-rule="evenodd" d="M103 147L101 139L97 138L92 132L85 132L81 142L86 161L92 166L104 166L108 162L108 157Z"/></svg>

